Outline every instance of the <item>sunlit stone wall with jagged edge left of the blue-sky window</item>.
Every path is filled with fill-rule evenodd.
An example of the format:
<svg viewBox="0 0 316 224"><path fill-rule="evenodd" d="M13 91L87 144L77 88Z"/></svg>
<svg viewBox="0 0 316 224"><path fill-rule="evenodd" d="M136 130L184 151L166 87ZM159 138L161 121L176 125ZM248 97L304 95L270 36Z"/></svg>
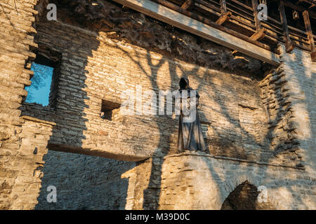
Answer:
<svg viewBox="0 0 316 224"><path fill-rule="evenodd" d="M37 47L32 36L36 32L32 27L36 2L0 2L0 209L31 209L39 194L37 168L42 166L41 155L46 148L39 144L39 153L34 155L35 142L42 135L34 134L28 140L27 130L22 128L37 126L48 132L49 127L40 121L25 121L19 110L22 97L27 95L24 87L31 84L32 71L25 62L35 58L29 48ZM23 148L26 141L32 141L28 149Z"/></svg>

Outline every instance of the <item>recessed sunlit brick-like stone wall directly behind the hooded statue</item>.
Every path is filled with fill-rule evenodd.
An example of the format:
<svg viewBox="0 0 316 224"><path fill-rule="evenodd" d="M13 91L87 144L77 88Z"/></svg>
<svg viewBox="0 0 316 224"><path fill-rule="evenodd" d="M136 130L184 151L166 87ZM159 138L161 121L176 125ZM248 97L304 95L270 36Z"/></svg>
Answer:
<svg viewBox="0 0 316 224"><path fill-rule="evenodd" d="M142 21L145 27L154 26L168 32L139 14L128 15L137 16L136 21ZM58 15L62 18L62 11ZM24 115L57 124L48 148L131 161L149 158L158 151L175 153L178 117L174 114L121 115L121 118L105 120L100 118L100 112L103 100L121 104L124 101L121 94L126 90L131 90L131 96L138 100L136 87L142 87L143 92L153 90L158 95L159 90L178 89L180 77L188 76L190 85L202 96L199 116L211 153L263 161L272 155L267 147L268 118L261 102L261 90L258 81L249 78L251 71L263 72L254 69L261 68L261 62L245 56L234 57L227 48L209 42L204 43L207 53L197 51L197 38L179 31L175 37L166 35L164 41L169 47L173 38L186 43L177 48L183 53L199 52L199 57L205 57L204 60L209 57L210 61L229 59L228 64L212 68L200 66L190 58L184 61L172 57L174 52L144 48L148 38L144 38L143 45L139 41L136 45L133 38L129 43L119 36L123 33L129 37L133 31L133 27L124 27L119 31L96 33L91 27L82 28L66 21L37 22L39 46L62 55L58 91L49 115L32 104L24 104L21 109ZM243 72L237 72L238 69ZM254 77L261 76L258 73ZM145 97L140 100L144 105Z"/></svg>

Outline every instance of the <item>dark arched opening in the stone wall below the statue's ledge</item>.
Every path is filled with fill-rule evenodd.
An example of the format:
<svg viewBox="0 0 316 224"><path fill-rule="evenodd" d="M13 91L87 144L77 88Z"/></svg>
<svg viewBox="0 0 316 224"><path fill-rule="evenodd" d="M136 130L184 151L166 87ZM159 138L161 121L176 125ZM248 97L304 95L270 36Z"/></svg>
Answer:
<svg viewBox="0 0 316 224"><path fill-rule="evenodd" d="M256 186L244 181L233 190L225 199L220 210L270 210L275 209L266 195L266 202L259 202L258 195L261 193Z"/></svg>

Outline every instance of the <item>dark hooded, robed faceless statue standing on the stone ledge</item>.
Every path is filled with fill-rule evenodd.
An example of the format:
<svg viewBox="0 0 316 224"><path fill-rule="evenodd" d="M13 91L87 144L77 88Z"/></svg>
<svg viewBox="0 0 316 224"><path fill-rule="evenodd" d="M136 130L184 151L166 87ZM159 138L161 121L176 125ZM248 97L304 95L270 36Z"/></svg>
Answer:
<svg viewBox="0 0 316 224"><path fill-rule="evenodd" d="M189 80L186 77L180 79L179 85L180 88L175 98L176 108L180 111L178 153L185 150L206 151L206 144L197 113L199 93L190 87Z"/></svg>

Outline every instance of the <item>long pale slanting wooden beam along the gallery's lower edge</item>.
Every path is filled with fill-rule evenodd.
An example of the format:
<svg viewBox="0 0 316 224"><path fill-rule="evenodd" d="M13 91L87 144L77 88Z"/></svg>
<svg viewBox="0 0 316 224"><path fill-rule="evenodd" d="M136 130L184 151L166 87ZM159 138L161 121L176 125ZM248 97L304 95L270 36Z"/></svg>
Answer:
<svg viewBox="0 0 316 224"><path fill-rule="evenodd" d="M279 56L270 50L259 47L253 43L249 43L242 38L228 34L227 32L206 25L198 20L190 18L186 15L176 12L171 8L162 6L156 2L149 0L114 0L124 6L138 10L152 18L169 23L174 27L178 27L197 36L208 39L227 48L238 50L239 52L249 55L256 59L273 65L279 65ZM182 9L181 9L182 10ZM216 25L215 22L213 24ZM220 27L219 25L216 25ZM249 38L250 39L250 38ZM258 42L258 41L257 41Z"/></svg>

